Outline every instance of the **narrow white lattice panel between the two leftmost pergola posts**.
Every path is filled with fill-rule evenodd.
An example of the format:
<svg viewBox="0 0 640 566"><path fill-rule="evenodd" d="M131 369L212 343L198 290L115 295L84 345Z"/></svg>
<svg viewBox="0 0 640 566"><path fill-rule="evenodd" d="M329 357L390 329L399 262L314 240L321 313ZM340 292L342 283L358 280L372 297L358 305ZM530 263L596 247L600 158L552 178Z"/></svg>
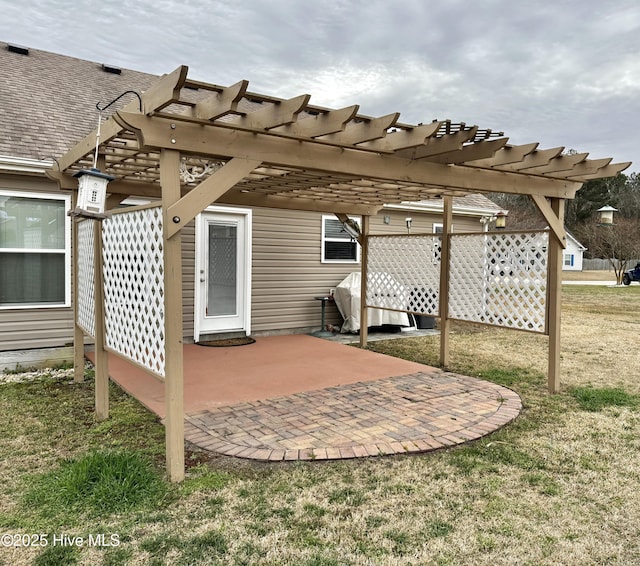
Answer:
<svg viewBox="0 0 640 566"><path fill-rule="evenodd" d="M94 244L96 220L81 220L76 225L78 230L78 310L76 322L82 330L95 338L96 336L96 295L95 295L95 265Z"/></svg>

